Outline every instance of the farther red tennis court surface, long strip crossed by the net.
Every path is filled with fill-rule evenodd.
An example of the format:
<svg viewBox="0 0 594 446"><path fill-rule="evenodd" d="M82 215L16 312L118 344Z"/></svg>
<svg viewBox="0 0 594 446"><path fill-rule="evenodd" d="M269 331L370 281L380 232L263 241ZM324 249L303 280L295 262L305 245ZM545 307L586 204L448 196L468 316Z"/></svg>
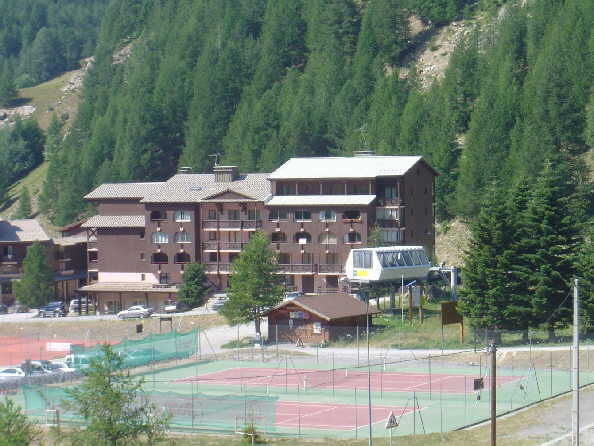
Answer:
<svg viewBox="0 0 594 446"><path fill-rule="evenodd" d="M405 372L372 372L371 388L384 392L472 392L474 378L478 376L433 373L431 379L428 373ZM517 376L498 376L497 385L521 379ZM204 375L190 376L176 379L174 382L199 382L218 385L247 385L300 388L307 391L315 389L367 389L367 371L354 370L308 370L279 368L235 368L221 370ZM485 378L485 388L489 386L489 378Z"/></svg>

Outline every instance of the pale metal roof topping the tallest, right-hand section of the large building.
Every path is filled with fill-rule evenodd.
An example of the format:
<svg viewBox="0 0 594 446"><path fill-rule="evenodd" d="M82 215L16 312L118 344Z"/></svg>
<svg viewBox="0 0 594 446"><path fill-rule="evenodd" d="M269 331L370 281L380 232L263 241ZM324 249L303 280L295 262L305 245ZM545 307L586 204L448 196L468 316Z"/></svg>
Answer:
<svg viewBox="0 0 594 446"><path fill-rule="evenodd" d="M376 178L401 176L420 156L354 156L291 158L270 174L270 179Z"/></svg>

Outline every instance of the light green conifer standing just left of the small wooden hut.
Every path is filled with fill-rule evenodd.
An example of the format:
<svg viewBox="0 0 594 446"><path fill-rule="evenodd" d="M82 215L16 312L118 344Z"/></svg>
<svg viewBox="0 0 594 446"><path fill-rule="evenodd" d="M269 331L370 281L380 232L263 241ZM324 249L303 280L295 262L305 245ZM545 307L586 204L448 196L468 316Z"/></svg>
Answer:
<svg viewBox="0 0 594 446"><path fill-rule="evenodd" d="M276 256L264 234L252 236L239 257L231 265L229 300L221 309L233 324L254 321L260 335L260 319L266 309L282 300L283 287L276 274Z"/></svg>

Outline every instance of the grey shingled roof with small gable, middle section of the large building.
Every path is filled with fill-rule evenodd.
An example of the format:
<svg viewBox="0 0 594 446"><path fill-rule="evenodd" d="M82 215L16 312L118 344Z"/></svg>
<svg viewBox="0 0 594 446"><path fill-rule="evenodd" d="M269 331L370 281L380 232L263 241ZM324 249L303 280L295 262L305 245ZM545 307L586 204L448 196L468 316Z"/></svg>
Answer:
<svg viewBox="0 0 594 446"><path fill-rule="evenodd" d="M216 183L214 174L177 174L147 193L142 203L196 203L233 192L246 201L264 201L271 194L268 174L248 173L235 181ZM233 200L237 201L237 200Z"/></svg>

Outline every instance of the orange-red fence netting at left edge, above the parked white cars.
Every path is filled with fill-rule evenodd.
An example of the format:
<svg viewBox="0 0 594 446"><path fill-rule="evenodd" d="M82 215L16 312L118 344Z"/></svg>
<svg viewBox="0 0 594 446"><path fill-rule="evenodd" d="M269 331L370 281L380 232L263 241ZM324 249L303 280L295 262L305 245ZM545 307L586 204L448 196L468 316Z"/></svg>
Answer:
<svg viewBox="0 0 594 446"><path fill-rule="evenodd" d="M62 345L60 345L62 344ZM91 346L96 342L70 341L66 339L0 337L0 366L20 365L26 359L63 358L68 353L69 344Z"/></svg>

